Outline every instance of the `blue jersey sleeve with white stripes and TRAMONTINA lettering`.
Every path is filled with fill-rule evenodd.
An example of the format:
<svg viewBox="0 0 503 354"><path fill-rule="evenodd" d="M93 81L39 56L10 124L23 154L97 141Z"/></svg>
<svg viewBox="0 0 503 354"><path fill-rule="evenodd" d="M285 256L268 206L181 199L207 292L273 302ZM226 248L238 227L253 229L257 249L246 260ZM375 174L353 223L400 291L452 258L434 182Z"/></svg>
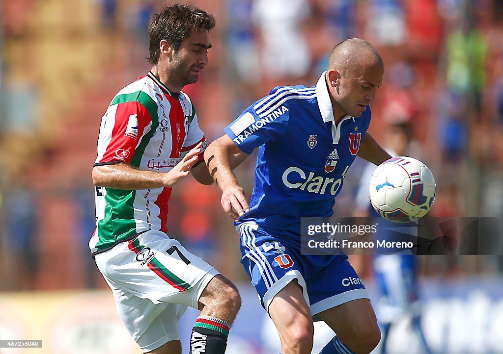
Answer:
<svg viewBox="0 0 503 354"><path fill-rule="evenodd" d="M246 108L224 131L239 149L251 154L255 148L285 134L289 113L281 97L271 94Z"/></svg>

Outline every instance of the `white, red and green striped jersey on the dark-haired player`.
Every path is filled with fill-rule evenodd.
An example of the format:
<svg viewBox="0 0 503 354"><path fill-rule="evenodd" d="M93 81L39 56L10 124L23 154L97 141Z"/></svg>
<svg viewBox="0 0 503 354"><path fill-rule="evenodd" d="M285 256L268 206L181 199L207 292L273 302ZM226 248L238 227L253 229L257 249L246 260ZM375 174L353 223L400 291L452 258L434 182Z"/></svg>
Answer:
<svg viewBox="0 0 503 354"><path fill-rule="evenodd" d="M101 121L95 166L126 163L140 170L170 171L184 153L204 142L189 96L172 93L151 72L117 93ZM199 155L198 162L203 159ZM196 162L197 163L197 162ZM156 229L167 232L171 188L96 188L97 227L92 254Z"/></svg>

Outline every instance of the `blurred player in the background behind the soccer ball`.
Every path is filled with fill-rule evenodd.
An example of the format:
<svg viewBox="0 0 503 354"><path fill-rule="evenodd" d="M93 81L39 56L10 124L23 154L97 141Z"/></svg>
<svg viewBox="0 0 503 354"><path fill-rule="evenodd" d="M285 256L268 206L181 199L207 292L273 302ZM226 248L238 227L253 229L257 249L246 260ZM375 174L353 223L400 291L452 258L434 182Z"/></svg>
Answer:
<svg viewBox="0 0 503 354"><path fill-rule="evenodd" d="M391 124L386 129L387 151L392 156L408 155L410 142L408 123ZM403 233L414 234L414 228L406 229L407 224L396 224L379 215L369 201L369 183L375 166L368 164L362 171L360 186L356 195L356 216L378 218L380 223L380 240L398 241ZM399 225L399 231L396 227ZM417 336L423 354L431 354L423 329L421 327L421 303L418 294L417 273L420 256L405 254L376 254L373 257L373 273L376 288L380 294L377 302L377 317L382 328L381 354L388 352L386 345L390 329L403 317L411 318L411 329ZM395 348L396 349L396 348ZM402 348L403 349L403 348Z"/></svg>

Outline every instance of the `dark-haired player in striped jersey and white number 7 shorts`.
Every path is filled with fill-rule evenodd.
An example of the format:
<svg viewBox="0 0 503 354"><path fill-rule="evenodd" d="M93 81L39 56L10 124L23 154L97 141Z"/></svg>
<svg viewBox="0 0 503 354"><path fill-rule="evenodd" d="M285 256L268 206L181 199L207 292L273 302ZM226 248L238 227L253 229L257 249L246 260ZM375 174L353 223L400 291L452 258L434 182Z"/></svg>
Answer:
<svg viewBox="0 0 503 354"><path fill-rule="evenodd" d="M235 286L167 232L172 187L192 174L213 182L206 140L182 88L208 64L213 15L173 5L149 25L152 69L112 99L93 168L97 228L89 246L117 309L143 352L181 353L178 320L199 308L190 352L224 353L240 306Z"/></svg>

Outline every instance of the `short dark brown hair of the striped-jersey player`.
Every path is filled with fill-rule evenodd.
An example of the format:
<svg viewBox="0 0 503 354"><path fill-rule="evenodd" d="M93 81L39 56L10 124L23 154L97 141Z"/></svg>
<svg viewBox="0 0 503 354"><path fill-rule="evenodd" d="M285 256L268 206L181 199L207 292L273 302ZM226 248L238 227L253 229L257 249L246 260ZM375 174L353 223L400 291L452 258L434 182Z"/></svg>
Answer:
<svg viewBox="0 0 503 354"><path fill-rule="evenodd" d="M175 50L187 39L192 31L210 31L215 27L213 14L189 4L175 4L165 7L150 18L148 26L148 42L150 64L155 65L159 60L159 42L166 40Z"/></svg>

